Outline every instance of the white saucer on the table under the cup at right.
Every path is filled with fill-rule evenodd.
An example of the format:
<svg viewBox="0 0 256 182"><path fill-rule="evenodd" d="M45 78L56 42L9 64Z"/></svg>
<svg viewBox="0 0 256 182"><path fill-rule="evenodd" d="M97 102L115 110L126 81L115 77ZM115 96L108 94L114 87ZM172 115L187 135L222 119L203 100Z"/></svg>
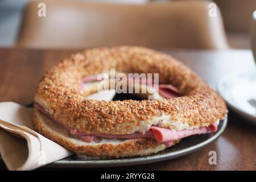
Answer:
<svg viewBox="0 0 256 182"><path fill-rule="evenodd" d="M218 92L230 109L256 124L256 73L233 73L221 78Z"/></svg>

